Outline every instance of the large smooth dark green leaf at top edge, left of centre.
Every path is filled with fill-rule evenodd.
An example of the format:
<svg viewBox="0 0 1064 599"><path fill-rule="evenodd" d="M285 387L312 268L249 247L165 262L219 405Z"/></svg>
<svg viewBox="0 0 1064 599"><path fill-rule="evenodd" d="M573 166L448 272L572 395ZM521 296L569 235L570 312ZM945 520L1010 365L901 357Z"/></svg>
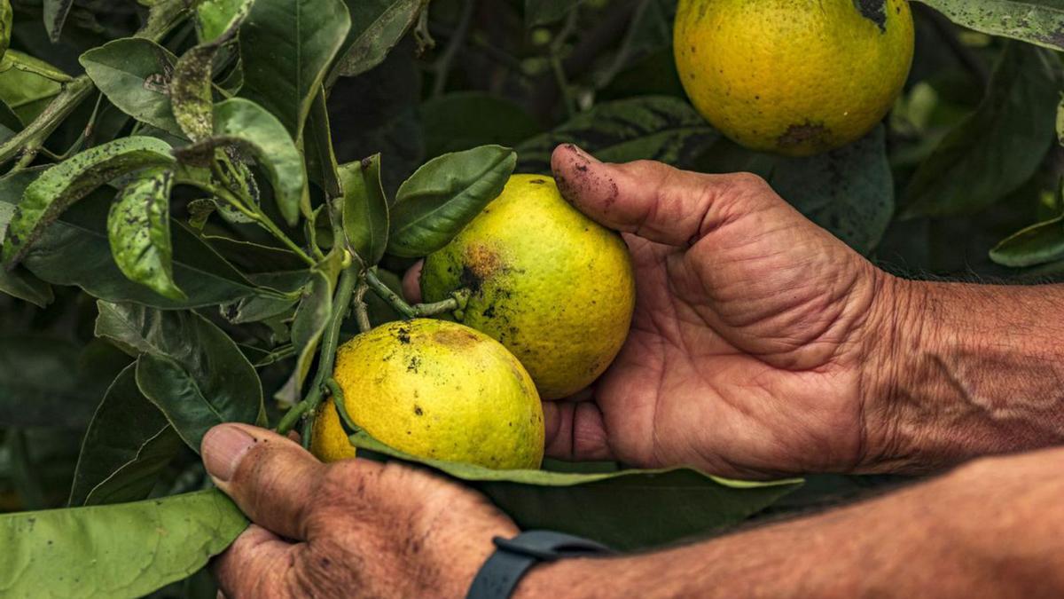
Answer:
<svg viewBox="0 0 1064 599"><path fill-rule="evenodd" d="M240 28L240 95L302 137L311 100L350 27L340 0L255 0Z"/></svg>

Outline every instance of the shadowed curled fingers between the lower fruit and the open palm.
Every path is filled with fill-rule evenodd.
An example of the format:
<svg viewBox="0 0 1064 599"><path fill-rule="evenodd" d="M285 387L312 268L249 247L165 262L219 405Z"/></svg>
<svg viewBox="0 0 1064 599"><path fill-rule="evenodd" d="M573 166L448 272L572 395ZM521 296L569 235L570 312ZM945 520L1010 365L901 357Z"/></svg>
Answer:
<svg viewBox="0 0 1064 599"><path fill-rule="evenodd" d="M578 462L614 458L598 405L546 402L543 415L547 433L545 453L549 457Z"/></svg>

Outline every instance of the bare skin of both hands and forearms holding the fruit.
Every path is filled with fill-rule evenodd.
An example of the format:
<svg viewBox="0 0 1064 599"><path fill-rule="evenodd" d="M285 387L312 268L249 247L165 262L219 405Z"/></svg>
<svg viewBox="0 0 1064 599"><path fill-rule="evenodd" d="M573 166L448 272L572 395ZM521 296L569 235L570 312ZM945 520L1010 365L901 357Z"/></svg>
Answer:
<svg viewBox="0 0 1064 599"><path fill-rule="evenodd" d="M610 371L545 405L549 454L768 477L942 470L1064 437L1060 287L893 277L751 175L571 146L553 168L569 201L626 231L637 298ZM462 596L491 537L516 533L422 471L326 467L249 426L213 430L203 456L259 524L219 560L233 597ZM521 594L1060 596L1062 465L1061 451L982 460L810 519L536 568Z"/></svg>

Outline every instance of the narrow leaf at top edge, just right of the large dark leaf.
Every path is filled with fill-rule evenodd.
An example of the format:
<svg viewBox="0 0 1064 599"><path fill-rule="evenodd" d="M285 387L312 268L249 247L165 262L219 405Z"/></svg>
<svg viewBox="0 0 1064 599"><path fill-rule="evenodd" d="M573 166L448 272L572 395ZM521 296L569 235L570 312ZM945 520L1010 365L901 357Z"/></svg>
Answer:
<svg viewBox="0 0 1064 599"><path fill-rule="evenodd" d="M347 0L351 30L326 85L331 87L337 77L355 77L384 62L428 4L428 0Z"/></svg>

